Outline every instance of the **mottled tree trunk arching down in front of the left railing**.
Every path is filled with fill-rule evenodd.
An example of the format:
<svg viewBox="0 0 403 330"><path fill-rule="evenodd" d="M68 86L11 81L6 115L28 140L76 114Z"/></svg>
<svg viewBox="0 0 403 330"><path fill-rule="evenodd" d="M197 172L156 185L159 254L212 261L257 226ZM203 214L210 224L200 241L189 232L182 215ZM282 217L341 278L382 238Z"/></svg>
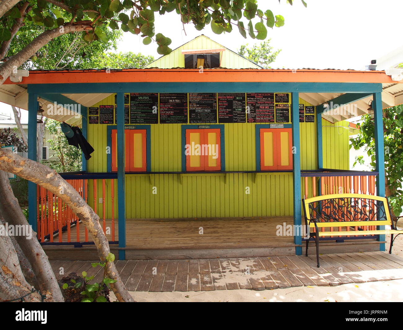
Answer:
<svg viewBox="0 0 403 330"><path fill-rule="evenodd" d="M80 194L55 170L33 160L20 157L10 150L0 149L0 170L21 176L44 187L64 201L87 227L98 250L101 262L106 262L110 253L108 240L99 223L99 216L89 207ZM123 284L114 262L106 262L106 276L116 280L110 286L119 301L134 301Z"/></svg>

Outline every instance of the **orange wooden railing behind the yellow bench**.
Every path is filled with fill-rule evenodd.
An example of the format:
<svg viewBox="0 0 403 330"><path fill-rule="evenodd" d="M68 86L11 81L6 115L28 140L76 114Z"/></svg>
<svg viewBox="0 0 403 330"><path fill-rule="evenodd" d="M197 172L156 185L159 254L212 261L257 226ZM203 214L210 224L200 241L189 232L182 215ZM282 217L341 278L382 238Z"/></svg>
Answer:
<svg viewBox="0 0 403 330"><path fill-rule="evenodd" d="M324 172L322 172L324 174ZM348 172L346 172L347 174ZM353 174L353 175L344 175L341 172L335 172L334 175L332 172L326 172L326 176L321 175L320 172L315 174L305 174L308 176L303 176L302 178L302 191L303 197L305 199L310 197L316 197L320 195L331 195L331 194L342 194L342 193L357 193L363 195L375 195L376 194L376 186L375 186L375 178L376 175L368 175L368 174ZM368 202L368 201L367 201ZM371 208L375 210L376 206L373 202L370 202ZM316 206L316 205L315 205ZM341 209L338 209L341 215ZM326 212L332 212L333 210L328 210ZM347 213L347 212L345 212ZM355 221L359 218L358 214L353 213L347 221ZM332 221L332 220L330 220ZM376 226L351 226L345 227L347 231L352 231L353 235L347 235L347 237L359 236L360 230L376 230ZM313 230L315 230L313 228ZM320 230L325 231L325 228L321 228ZM330 231L333 231L333 228L330 227ZM342 230L342 227L338 228L339 231ZM354 232L354 233L353 233ZM363 235L367 236L367 235ZM371 235L374 236L374 235ZM330 236L334 237L334 236ZM339 236L341 237L341 236Z"/></svg>

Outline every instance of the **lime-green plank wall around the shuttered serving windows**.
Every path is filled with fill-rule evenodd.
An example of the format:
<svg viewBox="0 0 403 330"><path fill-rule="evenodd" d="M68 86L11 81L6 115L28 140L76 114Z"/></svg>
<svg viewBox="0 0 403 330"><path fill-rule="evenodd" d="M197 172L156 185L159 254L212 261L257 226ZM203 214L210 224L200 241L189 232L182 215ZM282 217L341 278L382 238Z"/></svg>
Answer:
<svg viewBox="0 0 403 330"><path fill-rule="evenodd" d="M310 106L304 100L301 104ZM94 104L114 104L114 95ZM209 124L214 128L214 124ZM255 123L223 124L226 171L256 170ZM346 123L322 120L324 167L348 169L349 147ZM88 161L89 172L107 171L107 126L88 125L88 141L95 152ZM135 125L140 128L140 124ZM301 168L317 169L316 122L300 123ZM151 171L182 170L181 124L151 125ZM292 173L230 174L128 174L126 176L127 218L204 218L243 216L290 216L293 214ZM309 183L310 191L312 182ZM114 184L114 218L117 216L117 183ZM156 187L156 194L153 194ZM245 193L249 187L250 193ZM304 190L302 190L304 191ZM102 197L98 180L97 202ZM93 206L93 186L88 201ZM102 204L97 203L102 218ZM110 180L106 180L106 218L111 218Z"/></svg>

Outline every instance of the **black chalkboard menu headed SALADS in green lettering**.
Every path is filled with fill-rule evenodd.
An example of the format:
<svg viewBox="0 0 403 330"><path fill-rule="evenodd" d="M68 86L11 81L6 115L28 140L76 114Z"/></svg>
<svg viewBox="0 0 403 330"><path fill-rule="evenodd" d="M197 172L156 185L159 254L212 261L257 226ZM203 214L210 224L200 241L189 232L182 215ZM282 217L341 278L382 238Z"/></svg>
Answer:
<svg viewBox="0 0 403 330"><path fill-rule="evenodd" d="M158 124L158 93L130 93L130 123Z"/></svg>

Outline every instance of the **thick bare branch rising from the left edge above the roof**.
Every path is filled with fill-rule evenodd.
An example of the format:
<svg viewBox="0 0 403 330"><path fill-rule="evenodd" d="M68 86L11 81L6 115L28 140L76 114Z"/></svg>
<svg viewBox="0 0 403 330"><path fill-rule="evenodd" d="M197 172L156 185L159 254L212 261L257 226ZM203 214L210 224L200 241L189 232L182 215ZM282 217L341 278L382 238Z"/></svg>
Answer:
<svg viewBox="0 0 403 330"><path fill-rule="evenodd" d="M48 30L38 35L27 46L12 56L10 60L4 62L2 66L0 66L0 85L2 85L8 77L10 77L15 68L19 68L21 64L27 62L27 60L35 55L39 49L48 44L52 39L66 33L92 30L91 23L92 21L67 23L63 25L62 28L56 27L56 29Z"/></svg>

